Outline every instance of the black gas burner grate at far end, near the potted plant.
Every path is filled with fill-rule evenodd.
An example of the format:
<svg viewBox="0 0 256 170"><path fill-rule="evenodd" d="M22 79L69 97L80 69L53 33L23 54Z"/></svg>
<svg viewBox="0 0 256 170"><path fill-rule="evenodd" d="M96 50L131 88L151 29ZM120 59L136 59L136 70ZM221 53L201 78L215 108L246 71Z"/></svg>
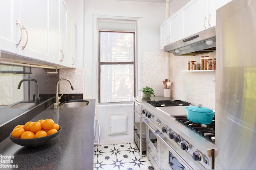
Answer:
<svg viewBox="0 0 256 170"><path fill-rule="evenodd" d="M148 101L154 107L164 107L164 106L189 106L190 103L183 100L159 100L159 101Z"/></svg>

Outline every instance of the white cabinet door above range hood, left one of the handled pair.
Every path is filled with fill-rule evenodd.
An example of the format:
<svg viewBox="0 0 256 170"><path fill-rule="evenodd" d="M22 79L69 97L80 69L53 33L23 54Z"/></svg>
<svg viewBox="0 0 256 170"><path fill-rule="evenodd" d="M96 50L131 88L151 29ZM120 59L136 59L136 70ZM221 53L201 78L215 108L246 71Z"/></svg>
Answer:
<svg viewBox="0 0 256 170"><path fill-rule="evenodd" d="M208 1L191 0L182 9L182 38L198 33L207 27Z"/></svg>

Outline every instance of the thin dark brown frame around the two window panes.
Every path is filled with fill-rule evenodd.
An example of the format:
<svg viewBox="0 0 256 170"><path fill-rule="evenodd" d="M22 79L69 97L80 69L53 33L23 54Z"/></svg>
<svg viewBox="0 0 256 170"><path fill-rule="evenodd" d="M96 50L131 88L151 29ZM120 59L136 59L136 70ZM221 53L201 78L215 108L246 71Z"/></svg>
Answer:
<svg viewBox="0 0 256 170"><path fill-rule="evenodd" d="M133 61L131 62L102 62L100 61L100 33L101 32L115 32L115 33L133 33ZM118 65L118 64L132 64L133 65L133 80L134 80L134 94L133 96L136 95L136 41L135 41L135 31L106 31L106 30L99 30L98 31L98 103L123 103L123 102L101 102L100 101L100 76L101 76L101 65ZM132 102L132 101L126 101L126 102Z"/></svg>

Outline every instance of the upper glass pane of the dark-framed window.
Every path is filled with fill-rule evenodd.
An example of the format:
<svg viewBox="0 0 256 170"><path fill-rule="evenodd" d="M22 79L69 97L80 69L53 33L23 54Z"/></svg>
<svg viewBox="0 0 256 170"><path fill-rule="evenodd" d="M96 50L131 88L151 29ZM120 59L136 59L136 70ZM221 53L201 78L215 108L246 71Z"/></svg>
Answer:
<svg viewBox="0 0 256 170"><path fill-rule="evenodd" d="M100 62L134 61L134 33L100 32Z"/></svg>

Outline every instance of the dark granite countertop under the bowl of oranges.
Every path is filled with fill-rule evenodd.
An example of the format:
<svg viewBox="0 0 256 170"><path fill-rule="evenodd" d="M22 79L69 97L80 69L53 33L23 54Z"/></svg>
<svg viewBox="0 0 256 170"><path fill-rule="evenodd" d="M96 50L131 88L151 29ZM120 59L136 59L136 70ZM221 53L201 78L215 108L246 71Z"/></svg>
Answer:
<svg viewBox="0 0 256 170"><path fill-rule="evenodd" d="M31 120L51 118L62 127L60 135L51 143L40 147L22 147L12 143L9 137L4 139L0 143L0 169L3 166L18 167L5 169L26 170L94 169L95 100L88 101L86 107L55 110L49 106Z"/></svg>

